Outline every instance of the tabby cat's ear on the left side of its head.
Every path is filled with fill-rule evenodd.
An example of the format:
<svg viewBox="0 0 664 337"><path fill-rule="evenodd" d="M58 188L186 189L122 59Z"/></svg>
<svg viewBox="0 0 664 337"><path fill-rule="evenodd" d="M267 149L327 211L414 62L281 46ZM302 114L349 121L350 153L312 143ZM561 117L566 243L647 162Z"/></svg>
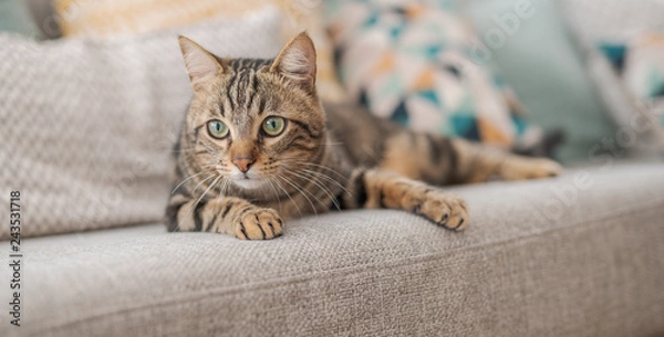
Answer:
<svg viewBox="0 0 664 337"><path fill-rule="evenodd" d="M224 72L224 67L217 62L217 57L198 43L181 35L178 41L194 88L198 88Z"/></svg>

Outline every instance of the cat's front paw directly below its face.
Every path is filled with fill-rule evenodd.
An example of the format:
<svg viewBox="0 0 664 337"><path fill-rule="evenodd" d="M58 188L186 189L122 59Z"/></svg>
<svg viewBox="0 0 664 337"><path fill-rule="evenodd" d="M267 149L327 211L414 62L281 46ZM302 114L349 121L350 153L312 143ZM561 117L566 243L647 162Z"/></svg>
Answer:
<svg viewBox="0 0 664 337"><path fill-rule="evenodd" d="M235 234L243 240L268 240L281 235L283 220L272 209L255 208L242 214L236 223Z"/></svg>

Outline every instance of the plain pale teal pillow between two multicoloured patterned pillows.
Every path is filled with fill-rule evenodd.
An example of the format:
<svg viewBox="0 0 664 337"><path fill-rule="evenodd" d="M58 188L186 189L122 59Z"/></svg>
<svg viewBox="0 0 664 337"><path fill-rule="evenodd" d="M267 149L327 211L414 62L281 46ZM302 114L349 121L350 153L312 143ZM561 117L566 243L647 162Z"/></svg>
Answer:
<svg viewBox="0 0 664 337"><path fill-rule="evenodd" d="M558 159L592 159L614 126L575 43L554 4L548 0L491 0L469 8L485 46L485 61L502 70L535 122L562 129Z"/></svg>

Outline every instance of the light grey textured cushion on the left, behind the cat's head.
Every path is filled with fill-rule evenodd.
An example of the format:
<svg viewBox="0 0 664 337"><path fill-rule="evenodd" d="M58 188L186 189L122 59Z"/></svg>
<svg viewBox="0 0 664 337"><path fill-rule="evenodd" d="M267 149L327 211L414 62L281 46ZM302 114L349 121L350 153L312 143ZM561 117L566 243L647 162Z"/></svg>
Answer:
<svg viewBox="0 0 664 337"><path fill-rule="evenodd" d="M270 57L279 20L266 9L110 41L0 34L0 201L21 192L22 235L159 221L191 96L177 35L219 55Z"/></svg>

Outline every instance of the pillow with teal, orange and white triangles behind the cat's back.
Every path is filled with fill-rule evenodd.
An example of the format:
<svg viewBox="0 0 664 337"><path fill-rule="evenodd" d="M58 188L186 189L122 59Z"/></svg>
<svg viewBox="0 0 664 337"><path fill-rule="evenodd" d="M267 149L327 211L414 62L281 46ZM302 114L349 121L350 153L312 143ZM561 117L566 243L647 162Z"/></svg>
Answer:
<svg viewBox="0 0 664 337"><path fill-rule="evenodd" d="M479 57L454 1L328 3L340 80L375 115L504 148L541 141L512 91Z"/></svg>

